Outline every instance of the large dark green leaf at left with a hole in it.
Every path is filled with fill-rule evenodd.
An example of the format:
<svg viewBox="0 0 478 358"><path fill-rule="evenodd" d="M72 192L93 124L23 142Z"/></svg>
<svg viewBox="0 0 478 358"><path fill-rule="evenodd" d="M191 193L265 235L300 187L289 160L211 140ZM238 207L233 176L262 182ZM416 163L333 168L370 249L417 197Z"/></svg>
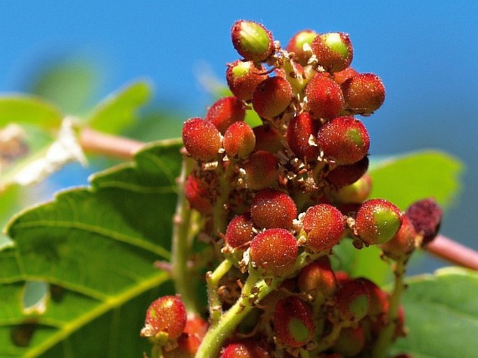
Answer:
<svg viewBox="0 0 478 358"><path fill-rule="evenodd" d="M179 141L150 144L91 186L15 216L0 251L0 357L142 357L144 312L170 292L156 260L170 258ZM28 290L50 299L24 311ZM41 292L37 294L41 297ZM33 302L34 304L34 302Z"/></svg>

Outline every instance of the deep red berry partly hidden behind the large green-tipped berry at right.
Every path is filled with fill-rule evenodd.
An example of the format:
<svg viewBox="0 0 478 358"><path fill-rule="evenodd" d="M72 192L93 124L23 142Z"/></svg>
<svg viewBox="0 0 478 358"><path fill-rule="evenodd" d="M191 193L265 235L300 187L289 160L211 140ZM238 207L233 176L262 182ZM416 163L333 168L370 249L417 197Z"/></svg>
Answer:
<svg viewBox="0 0 478 358"><path fill-rule="evenodd" d="M316 161L319 156L319 147L311 144L315 142L315 135L320 127L320 121L312 119L308 112L302 112L292 118L287 126L287 143L294 154L308 162Z"/></svg>

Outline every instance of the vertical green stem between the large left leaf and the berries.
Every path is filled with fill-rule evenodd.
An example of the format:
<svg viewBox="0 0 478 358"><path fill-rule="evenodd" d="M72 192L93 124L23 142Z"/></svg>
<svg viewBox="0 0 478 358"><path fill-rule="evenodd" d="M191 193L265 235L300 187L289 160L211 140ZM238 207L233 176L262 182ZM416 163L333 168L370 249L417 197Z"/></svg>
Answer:
<svg viewBox="0 0 478 358"><path fill-rule="evenodd" d="M200 312L195 285L191 284L191 269L188 268L188 258L191 251L192 230L191 217L193 211L188 207L188 201L184 196L184 181L191 172L194 162L190 158L184 158L179 177L179 192L174 215L174 228L172 232L172 277L176 292L181 294L181 300L186 306L188 313Z"/></svg>

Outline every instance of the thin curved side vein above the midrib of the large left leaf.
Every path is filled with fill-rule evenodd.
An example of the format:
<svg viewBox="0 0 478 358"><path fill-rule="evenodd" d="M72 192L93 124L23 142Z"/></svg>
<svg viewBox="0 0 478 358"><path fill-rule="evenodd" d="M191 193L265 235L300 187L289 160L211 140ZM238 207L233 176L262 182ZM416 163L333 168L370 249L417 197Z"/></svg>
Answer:
<svg viewBox="0 0 478 358"><path fill-rule="evenodd" d="M66 228L66 229L82 230L85 232L94 232L95 234L100 234L104 237L109 237L110 239L114 239L126 244L133 244L134 246L143 248L144 250L150 251L151 253L160 255L166 260L170 260L171 258L171 254L167 252L165 248L162 248L161 246L150 244L147 241L142 241L142 240L136 239L135 237L131 237L125 234L120 234L119 232L106 230L105 228L101 228L96 225L89 225L85 223L80 223L78 221L39 220L39 221L29 221L28 223L17 223L15 225L16 225L16 228L41 228L41 227Z"/></svg>

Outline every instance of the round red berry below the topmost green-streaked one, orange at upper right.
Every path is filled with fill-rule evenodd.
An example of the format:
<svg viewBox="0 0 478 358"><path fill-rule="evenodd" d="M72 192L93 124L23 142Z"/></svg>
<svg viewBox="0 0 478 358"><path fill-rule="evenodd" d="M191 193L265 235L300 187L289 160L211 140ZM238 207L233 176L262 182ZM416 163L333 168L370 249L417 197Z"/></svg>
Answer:
<svg viewBox="0 0 478 358"><path fill-rule="evenodd" d="M255 87L253 107L260 117L273 119L292 102L292 87L283 77L269 77Z"/></svg>

